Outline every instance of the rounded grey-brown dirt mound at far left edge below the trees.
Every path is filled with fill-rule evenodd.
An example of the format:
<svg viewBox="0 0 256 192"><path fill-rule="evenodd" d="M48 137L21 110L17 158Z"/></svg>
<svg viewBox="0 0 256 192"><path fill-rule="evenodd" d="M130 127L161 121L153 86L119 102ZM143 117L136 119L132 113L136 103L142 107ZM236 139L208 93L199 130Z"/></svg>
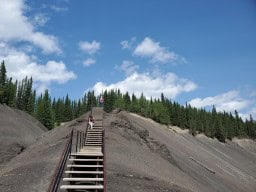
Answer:
<svg viewBox="0 0 256 192"><path fill-rule="evenodd" d="M0 166L34 143L47 129L27 113L0 105Z"/></svg>

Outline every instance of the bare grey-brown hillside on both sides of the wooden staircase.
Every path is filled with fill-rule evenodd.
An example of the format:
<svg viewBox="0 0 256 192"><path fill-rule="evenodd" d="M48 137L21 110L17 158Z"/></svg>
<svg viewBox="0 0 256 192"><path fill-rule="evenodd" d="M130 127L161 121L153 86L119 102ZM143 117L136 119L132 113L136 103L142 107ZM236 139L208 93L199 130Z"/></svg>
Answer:
<svg viewBox="0 0 256 192"><path fill-rule="evenodd" d="M47 191L67 135L72 128L84 129L87 116L43 133L6 163L0 169L1 190ZM224 144L204 135L193 137L124 111L105 113L103 125L109 192L256 191L253 141Z"/></svg>

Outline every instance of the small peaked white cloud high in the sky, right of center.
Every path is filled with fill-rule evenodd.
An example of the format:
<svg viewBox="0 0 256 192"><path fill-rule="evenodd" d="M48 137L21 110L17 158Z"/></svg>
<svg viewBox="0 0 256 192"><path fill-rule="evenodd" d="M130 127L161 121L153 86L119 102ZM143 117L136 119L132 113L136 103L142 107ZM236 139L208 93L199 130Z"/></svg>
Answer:
<svg viewBox="0 0 256 192"><path fill-rule="evenodd" d="M179 56L161 47L159 42L155 42L146 37L134 50L134 55L149 58L152 63L168 63L175 62Z"/></svg>

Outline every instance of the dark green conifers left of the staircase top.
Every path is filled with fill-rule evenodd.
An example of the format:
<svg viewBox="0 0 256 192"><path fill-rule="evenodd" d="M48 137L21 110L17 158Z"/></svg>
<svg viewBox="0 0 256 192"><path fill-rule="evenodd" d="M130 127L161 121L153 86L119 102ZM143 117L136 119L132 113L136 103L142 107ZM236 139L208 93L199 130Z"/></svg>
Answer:
<svg viewBox="0 0 256 192"><path fill-rule="evenodd" d="M32 78L13 81L6 74L3 61L0 66L0 103L29 113L48 129L59 126L61 122L71 121L96 106L97 98L93 91L79 100L71 100L68 95L52 99L48 90L37 97Z"/></svg>

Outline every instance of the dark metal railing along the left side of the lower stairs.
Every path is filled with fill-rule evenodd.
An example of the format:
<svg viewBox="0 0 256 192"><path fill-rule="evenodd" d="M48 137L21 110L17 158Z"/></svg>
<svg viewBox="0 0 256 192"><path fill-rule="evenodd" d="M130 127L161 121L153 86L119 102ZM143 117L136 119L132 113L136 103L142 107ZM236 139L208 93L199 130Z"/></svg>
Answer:
<svg viewBox="0 0 256 192"><path fill-rule="evenodd" d="M67 141L67 144L65 146L64 151L62 152L61 158L59 160L58 167L55 170L55 174L54 174L54 177L52 179L51 185L48 189L48 192L57 192L59 190L60 180L61 180L63 171L65 169L67 159L71 154L72 138L73 138L73 129L70 132L69 139Z"/></svg>

